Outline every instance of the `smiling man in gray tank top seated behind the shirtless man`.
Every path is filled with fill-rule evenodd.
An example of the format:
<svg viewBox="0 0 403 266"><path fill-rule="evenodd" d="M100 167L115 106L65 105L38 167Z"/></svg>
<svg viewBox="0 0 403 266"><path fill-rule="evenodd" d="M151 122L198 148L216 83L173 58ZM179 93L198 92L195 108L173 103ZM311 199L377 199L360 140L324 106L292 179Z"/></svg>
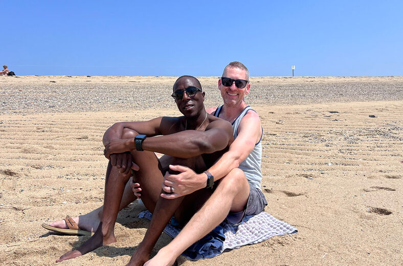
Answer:
<svg viewBox="0 0 403 266"><path fill-rule="evenodd" d="M244 102L244 96L250 90L248 69L240 62L231 62L225 67L222 77L218 81L218 88L221 91L224 105L218 108L210 108L208 112L214 113L215 116L232 123L235 141L230 150L208 169L209 174L196 174L188 167L171 165L171 170L178 171L180 174L171 175L167 173L165 175L163 190L169 192L172 187L173 194L162 194L161 196L166 199L175 199L192 194L192 192L206 187L207 176L214 176L214 181L217 181L219 185L204 206L191 217L180 234L167 247L161 249L149 263L172 264L175 258L187 247L206 235L226 218L229 222L237 224L242 221L245 215L260 213L267 205L260 191L262 178L260 171L260 140L262 137L260 119L257 113ZM164 157L161 158L162 161ZM125 171L125 167L121 167L121 171ZM233 180L231 192L222 194L222 190L225 190L225 184L227 184L226 180L231 179ZM217 192L220 185L224 187L219 190L221 192ZM133 195L130 184L126 185L119 209L126 207L136 197L143 199L143 184L141 184L141 188L139 186L139 183L131 184L132 190L135 192ZM235 208L235 203L240 204L242 207ZM81 229L94 232L100 223L100 218L103 217L103 213L103 207L100 207L85 215L74 217L73 219L69 218L73 224L79 224ZM206 221L209 221L209 223L206 223ZM50 224L50 226L42 226L56 232L74 232L73 230L65 229L68 228L66 222L61 220ZM151 222L152 224L153 222ZM75 224L75 226L77 225ZM75 232L77 233L77 230ZM146 236L148 237L148 235ZM147 240L145 237L143 242L146 243L145 241ZM143 242L142 246L145 245ZM149 254L148 251L145 252L144 249L139 247L132 260L130 260L131 263L142 265L142 263L136 262L135 259L144 261L147 253ZM161 260L165 260L165 262L163 263Z"/></svg>

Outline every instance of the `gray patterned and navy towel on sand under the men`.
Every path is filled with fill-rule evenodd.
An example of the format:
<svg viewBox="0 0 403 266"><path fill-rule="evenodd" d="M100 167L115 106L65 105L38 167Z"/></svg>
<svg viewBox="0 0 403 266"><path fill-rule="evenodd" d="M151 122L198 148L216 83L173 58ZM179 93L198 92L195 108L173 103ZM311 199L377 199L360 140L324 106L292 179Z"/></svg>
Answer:
<svg viewBox="0 0 403 266"><path fill-rule="evenodd" d="M145 210L139 214L139 218L143 217L151 220L152 214ZM175 224L174 218L172 220L165 227L164 232L175 237L181 229L172 226ZM223 221L213 231L185 250L182 255L190 260L211 258L226 250L260 243L275 235L295 234L297 232L297 228L262 211L259 214L244 217L238 226L229 223L227 220Z"/></svg>

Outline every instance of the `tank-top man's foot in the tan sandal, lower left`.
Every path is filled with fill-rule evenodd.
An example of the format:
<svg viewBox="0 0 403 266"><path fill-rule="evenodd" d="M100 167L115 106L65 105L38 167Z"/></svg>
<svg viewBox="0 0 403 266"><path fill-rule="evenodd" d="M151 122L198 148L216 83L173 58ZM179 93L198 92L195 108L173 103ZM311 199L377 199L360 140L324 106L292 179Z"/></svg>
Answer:
<svg viewBox="0 0 403 266"><path fill-rule="evenodd" d="M102 207L95 209L91 212L88 212L87 214L72 217L72 219L74 220L74 222L76 222L80 230L95 232L98 228L99 222L101 222L100 219L101 211ZM69 229L64 220L58 220L49 225L60 229Z"/></svg>

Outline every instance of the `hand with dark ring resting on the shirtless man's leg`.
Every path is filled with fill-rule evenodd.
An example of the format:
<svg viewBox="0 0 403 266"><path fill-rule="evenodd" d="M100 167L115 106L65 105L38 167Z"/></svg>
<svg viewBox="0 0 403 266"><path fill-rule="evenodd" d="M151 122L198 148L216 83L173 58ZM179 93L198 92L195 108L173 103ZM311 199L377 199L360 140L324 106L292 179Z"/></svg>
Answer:
<svg viewBox="0 0 403 266"><path fill-rule="evenodd" d="M181 172L173 175L167 172L164 176L162 189L166 193L161 194L164 199L176 199L185 195L189 195L194 191L205 188L207 184L207 175L205 173L196 174L189 167L182 165L169 165L170 170ZM172 187L172 191L171 191Z"/></svg>

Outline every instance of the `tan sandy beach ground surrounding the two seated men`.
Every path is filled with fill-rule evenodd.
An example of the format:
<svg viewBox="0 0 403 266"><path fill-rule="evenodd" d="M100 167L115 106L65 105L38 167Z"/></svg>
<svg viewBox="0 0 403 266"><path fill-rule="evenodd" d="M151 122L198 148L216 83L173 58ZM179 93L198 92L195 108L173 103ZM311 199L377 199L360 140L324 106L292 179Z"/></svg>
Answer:
<svg viewBox="0 0 403 266"><path fill-rule="evenodd" d="M0 77L0 264L54 265L87 236L43 229L102 205L102 135L115 122L180 115L176 77ZM218 77L200 78L206 107ZM292 236L178 265L401 265L403 78L252 77L265 211ZM374 116L374 117L370 117ZM125 265L149 221L119 213L118 242L60 265ZM163 234L152 255L170 241Z"/></svg>

